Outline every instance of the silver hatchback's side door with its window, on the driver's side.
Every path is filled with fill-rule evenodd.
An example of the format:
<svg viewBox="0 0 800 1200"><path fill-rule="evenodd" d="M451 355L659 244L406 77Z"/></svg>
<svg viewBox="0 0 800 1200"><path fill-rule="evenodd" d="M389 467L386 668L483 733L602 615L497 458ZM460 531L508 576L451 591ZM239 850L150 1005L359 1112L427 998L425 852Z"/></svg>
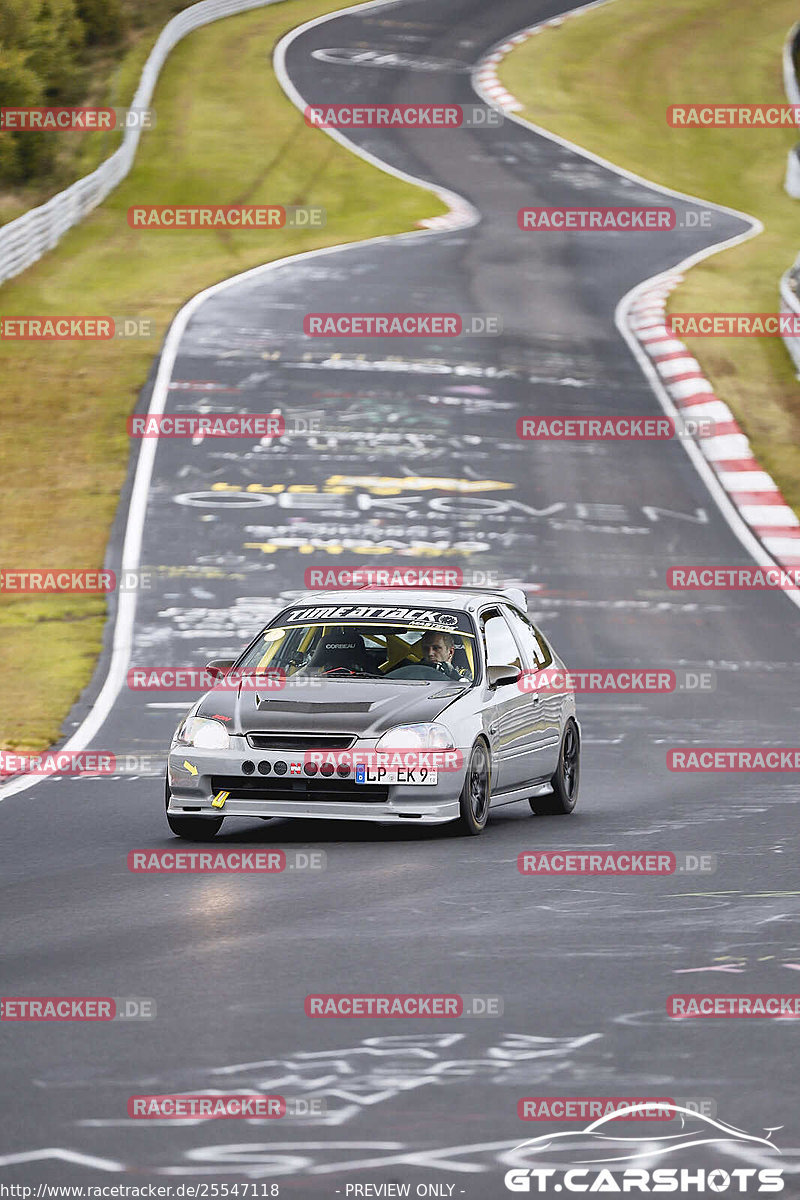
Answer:
<svg viewBox="0 0 800 1200"><path fill-rule="evenodd" d="M480 626L487 668L510 666L523 671L519 647L500 606L485 608L480 613ZM486 688L485 727L495 762L493 792L507 792L522 787L530 778L528 758L533 706L517 683L489 688L488 671Z"/></svg>

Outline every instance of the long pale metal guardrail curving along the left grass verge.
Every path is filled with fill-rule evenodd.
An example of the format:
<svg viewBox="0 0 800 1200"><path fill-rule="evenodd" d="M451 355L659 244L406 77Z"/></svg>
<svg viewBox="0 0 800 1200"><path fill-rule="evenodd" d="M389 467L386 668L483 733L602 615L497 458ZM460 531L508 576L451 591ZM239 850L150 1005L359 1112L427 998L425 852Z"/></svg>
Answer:
<svg viewBox="0 0 800 1200"><path fill-rule="evenodd" d="M173 17L148 56L131 108L149 108L169 52L185 37L221 17L261 8L276 0L200 0ZM97 208L131 170L139 144L139 128L126 128L122 143L100 167L76 180L0 229L0 283L13 278L59 244L65 233Z"/></svg>

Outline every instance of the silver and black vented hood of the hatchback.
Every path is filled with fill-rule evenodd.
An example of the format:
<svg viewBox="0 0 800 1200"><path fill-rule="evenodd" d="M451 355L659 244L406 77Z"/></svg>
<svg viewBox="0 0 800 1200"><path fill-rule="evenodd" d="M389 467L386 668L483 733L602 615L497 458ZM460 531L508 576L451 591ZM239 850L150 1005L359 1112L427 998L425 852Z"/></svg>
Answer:
<svg viewBox="0 0 800 1200"><path fill-rule="evenodd" d="M467 689L446 679L396 683L314 679L279 690L249 686L207 692L198 716L228 718L229 733L355 733L380 737L395 725L432 721Z"/></svg>

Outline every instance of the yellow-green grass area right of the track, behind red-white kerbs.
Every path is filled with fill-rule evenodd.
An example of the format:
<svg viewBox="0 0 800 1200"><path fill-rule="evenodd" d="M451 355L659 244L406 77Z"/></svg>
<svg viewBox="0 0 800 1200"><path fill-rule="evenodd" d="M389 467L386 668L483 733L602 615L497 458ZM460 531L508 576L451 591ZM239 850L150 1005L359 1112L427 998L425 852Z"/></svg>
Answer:
<svg viewBox="0 0 800 1200"><path fill-rule="evenodd" d="M757 216L765 232L694 266L670 312L777 312L800 248L783 191L798 131L678 130L674 103L784 103L781 50L793 0L614 0L521 44L500 78L522 115L646 179ZM780 338L684 338L800 510L800 385Z"/></svg>

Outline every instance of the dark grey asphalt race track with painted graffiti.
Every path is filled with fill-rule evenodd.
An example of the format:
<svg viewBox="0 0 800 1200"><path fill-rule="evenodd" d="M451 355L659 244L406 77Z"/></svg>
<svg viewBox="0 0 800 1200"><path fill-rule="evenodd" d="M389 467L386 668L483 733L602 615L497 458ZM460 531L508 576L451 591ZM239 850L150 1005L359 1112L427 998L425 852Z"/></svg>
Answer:
<svg viewBox="0 0 800 1200"><path fill-rule="evenodd" d="M296 38L287 68L312 103L470 103L470 65L557 11L426 0L347 14ZM330 48L437 64L313 54ZM324 432L273 446L160 443L143 547L156 583L139 596L132 664L201 666L235 653L302 589L306 566L374 562L354 550L337 559L326 542L396 544L407 562L425 560L410 546L441 542L440 562L537 586L530 612L569 664L680 664L715 671L716 690L584 697L570 818L535 818L521 804L481 839L283 821L228 822L217 839L321 848L327 869L315 875L130 874L128 850L176 845L156 775L61 778L5 799L4 994L152 997L157 1018L4 1026L0 1182L257 1181L279 1183L281 1195L333 1196L348 1183L393 1181L501 1196L504 1153L569 1128L521 1122L517 1100L553 1094L712 1098L721 1118L751 1134L782 1126L775 1140L790 1169L794 1024L680 1022L666 1001L796 989L796 784L678 775L666 751L796 744L796 610L780 594L667 588L673 564L750 562L678 442L515 436L517 416L531 413L658 415L615 306L745 224L715 212L702 233L523 233L523 205L672 203L679 223L692 205L511 122L354 138L458 192L481 221L320 253L197 312L173 379L231 390L174 388L169 412L279 407L319 419ZM498 313L504 332L311 344L300 332L308 311ZM339 475L355 479L330 491ZM405 482L381 494L381 476ZM223 482L231 490L198 497ZM278 499L246 492L253 484L311 490ZM124 689L94 744L163 757L179 713L157 706L181 700ZM718 866L634 880L517 872L521 850L565 846L703 851ZM303 1015L311 991L501 996L504 1013L314 1021ZM327 1115L278 1124L126 1116L136 1093L248 1087L324 1098ZM694 1147L675 1165L765 1163L734 1146Z"/></svg>

